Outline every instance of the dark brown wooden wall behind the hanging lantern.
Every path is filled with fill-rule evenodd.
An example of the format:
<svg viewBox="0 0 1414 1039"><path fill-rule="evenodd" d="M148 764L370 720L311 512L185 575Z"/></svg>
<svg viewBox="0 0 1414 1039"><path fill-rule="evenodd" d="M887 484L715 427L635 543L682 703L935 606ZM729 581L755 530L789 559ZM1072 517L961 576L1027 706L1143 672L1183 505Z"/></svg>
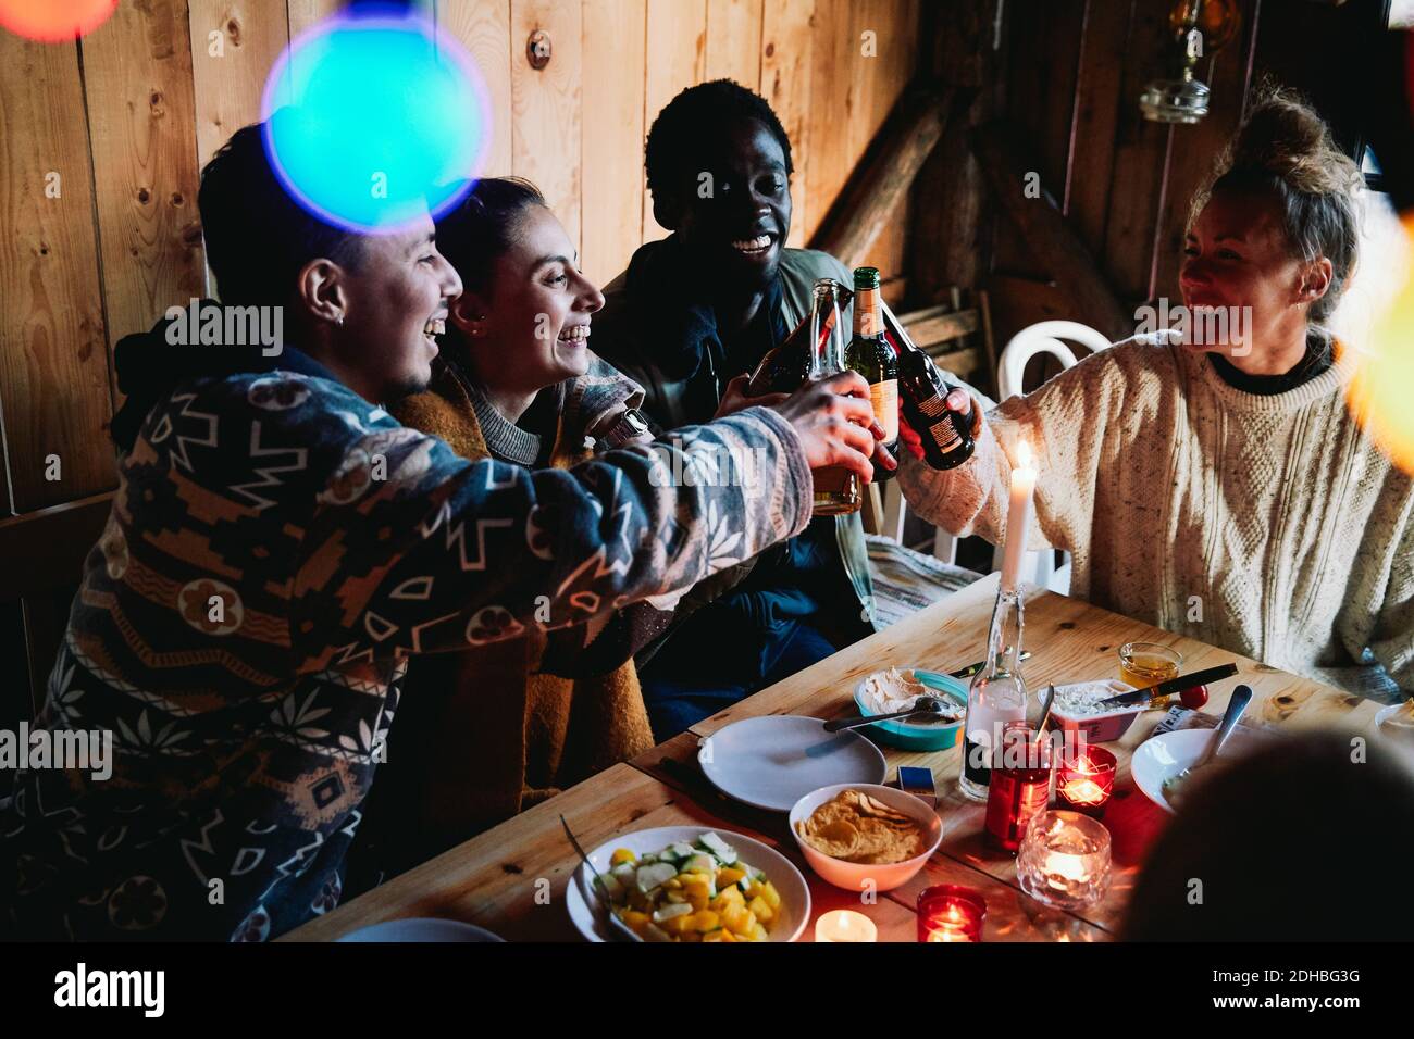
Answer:
<svg viewBox="0 0 1414 1039"><path fill-rule="evenodd" d="M956 1L940 0L945 8ZM990 10L997 3L976 1ZM991 52L990 40L969 48L987 52L997 68L976 107L983 117L1008 119L1021 129L1041 187L1127 308L1158 297L1178 300L1189 201L1237 124L1247 83L1254 68L1261 69L1254 62L1258 30L1273 20L1270 0L1239 0L1239 37L1199 64L1198 75L1213 93L1208 119L1196 126L1161 126L1140 116L1144 85L1171 66L1171 0L1007 3L1000 51ZM1297 0L1291 6L1311 7ZM964 28L956 13L940 18L933 30L937 49L964 49L962 44L971 42L957 38ZM946 68L940 72L947 75ZM956 195L954 171L964 165L960 147L956 137L945 140L949 154L935 157L919 178L913 208L923 219L950 209L954 215L943 218L952 219L949 237L980 243L983 256L973 250L949 257L939 247L942 259L915 257L918 294L936 294L947 284L988 288L998 349L1036 321L1085 321L991 199L959 226L949 199ZM919 233L915 242L926 237Z"/></svg>

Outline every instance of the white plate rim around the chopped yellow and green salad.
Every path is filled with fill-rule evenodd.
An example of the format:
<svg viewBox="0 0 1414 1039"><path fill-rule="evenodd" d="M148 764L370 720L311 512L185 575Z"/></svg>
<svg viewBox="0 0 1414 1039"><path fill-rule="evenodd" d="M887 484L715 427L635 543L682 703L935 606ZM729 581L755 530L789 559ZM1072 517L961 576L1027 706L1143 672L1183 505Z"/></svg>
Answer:
<svg viewBox="0 0 1414 1039"><path fill-rule="evenodd" d="M795 941L800 937L810 919L810 888L806 886L805 876L779 851L745 834L731 830L711 830L706 826L660 826L655 830L639 830L614 837L591 851L590 861L595 869L604 874L608 872L609 858L617 848L628 848L635 855L659 852L673 841L691 844L704 833L715 833L727 841L741 858L761 869L781 893L781 920L771 927L771 940ZM580 868L570 875L564 905L570 910L570 922L584 937L590 941L608 941L608 927L590 909L588 899L594 898L592 882L594 875L581 862Z"/></svg>

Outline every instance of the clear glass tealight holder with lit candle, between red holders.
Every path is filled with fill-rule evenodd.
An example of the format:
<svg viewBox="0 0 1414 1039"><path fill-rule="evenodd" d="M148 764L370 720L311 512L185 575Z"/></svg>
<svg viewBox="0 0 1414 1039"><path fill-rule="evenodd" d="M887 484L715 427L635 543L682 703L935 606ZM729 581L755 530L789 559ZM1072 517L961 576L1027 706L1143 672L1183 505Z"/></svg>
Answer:
<svg viewBox="0 0 1414 1039"><path fill-rule="evenodd" d="M1017 879L1058 909L1094 905L1110 888L1110 831L1079 811L1042 811L1021 841Z"/></svg>

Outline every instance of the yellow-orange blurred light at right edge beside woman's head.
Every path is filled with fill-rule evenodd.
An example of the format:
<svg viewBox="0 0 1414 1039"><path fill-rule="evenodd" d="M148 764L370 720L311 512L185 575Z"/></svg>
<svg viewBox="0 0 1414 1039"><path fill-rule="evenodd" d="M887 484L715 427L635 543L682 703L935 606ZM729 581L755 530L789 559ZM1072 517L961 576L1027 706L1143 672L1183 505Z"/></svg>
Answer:
<svg viewBox="0 0 1414 1039"><path fill-rule="evenodd" d="M1350 407L1366 435L1414 474L1414 212L1406 213L1404 284L1355 352Z"/></svg>

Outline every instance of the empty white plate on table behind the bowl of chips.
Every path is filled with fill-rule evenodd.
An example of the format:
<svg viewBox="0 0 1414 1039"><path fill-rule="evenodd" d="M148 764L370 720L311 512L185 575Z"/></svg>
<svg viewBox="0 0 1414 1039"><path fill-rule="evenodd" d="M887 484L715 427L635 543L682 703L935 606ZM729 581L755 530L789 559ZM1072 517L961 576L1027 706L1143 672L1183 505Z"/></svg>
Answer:
<svg viewBox="0 0 1414 1039"><path fill-rule="evenodd" d="M718 790L768 811L790 811L812 790L882 783L884 753L853 729L826 732L819 718L744 718L707 736L697 761Z"/></svg>

